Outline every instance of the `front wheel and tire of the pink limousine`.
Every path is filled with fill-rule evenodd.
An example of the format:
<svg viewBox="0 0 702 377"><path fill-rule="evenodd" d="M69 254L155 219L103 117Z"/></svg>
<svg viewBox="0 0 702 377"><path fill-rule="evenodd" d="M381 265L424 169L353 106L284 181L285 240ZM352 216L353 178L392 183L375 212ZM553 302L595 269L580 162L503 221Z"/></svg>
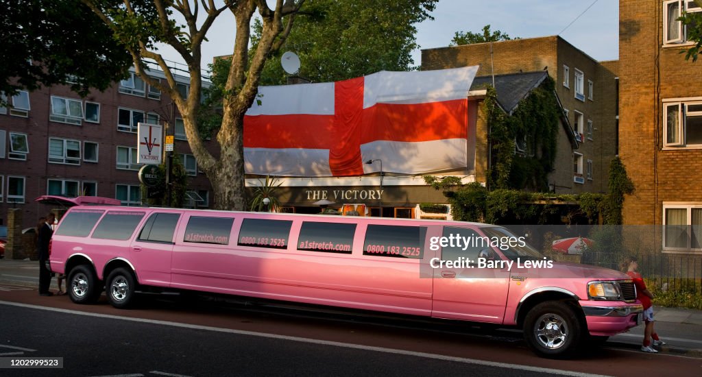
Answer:
<svg viewBox="0 0 702 377"><path fill-rule="evenodd" d="M581 343L582 334L581 320L562 301L540 303L524 319L524 340L541 357L571 357Z"/></svg>

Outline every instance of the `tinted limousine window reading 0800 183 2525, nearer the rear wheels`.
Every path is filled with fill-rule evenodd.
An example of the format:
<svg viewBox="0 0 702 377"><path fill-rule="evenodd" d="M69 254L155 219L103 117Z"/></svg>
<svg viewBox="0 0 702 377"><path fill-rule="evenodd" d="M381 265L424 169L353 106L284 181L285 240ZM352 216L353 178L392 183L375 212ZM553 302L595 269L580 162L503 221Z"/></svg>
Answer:
<svg viewBox="0 0 702 377"><path fill-rule="evenodd" d="M286 249L292 225L290 220L245 218L239 231L239 246Z"/></svg>

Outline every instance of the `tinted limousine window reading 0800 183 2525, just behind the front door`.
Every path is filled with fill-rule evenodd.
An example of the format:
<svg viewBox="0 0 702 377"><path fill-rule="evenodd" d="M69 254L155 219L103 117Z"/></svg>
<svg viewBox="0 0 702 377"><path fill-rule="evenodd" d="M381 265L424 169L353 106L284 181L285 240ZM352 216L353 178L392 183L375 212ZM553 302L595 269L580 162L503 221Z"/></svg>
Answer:
<svg viewBox="0 0 702 377"><path fill-rule="evenodd" d="M426 234L426 227L368 225L363 255L421 259Z"/></svg>

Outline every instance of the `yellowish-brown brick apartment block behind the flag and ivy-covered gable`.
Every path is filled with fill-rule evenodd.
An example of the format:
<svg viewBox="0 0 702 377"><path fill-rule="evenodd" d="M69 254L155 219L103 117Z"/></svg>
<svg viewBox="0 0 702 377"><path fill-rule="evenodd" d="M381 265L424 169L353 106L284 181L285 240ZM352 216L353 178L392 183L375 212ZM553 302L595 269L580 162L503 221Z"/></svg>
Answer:
<svg viewBox="0 0 702 377"><path fill-rule="evenodd" d="M616 154L616 62L597 62L558 36L422 50L422 70L465 65L479 65L478 76L548 71L579 145L560 154L572 173L565 184L554 178L552 190L607 192ZM559 150L568 144L559 140Z"/></svg>

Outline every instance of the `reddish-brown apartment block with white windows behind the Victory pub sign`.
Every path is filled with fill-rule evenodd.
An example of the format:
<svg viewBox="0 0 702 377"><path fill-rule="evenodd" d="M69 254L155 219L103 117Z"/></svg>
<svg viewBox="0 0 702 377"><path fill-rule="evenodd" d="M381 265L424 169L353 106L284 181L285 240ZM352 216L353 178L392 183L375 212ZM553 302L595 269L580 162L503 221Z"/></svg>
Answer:
<svg viewBox="0 0 702 377"><path fill-rule="evenodd" d="M162 72L152 74L164 79ZM187 95L189 81L177 79L181 94ZM21 216L21 227L36 225L51 209L34 201L43 194L111 197L140 205L140 121L175 125L174 150L194 198L188 204L209 205L209 182L197 171L175 105L135 74L86 98L67 86L51 86L20 91L6 102L7 107L0 107L0 224L8 223L12 211L13 218Z"/></svg>

